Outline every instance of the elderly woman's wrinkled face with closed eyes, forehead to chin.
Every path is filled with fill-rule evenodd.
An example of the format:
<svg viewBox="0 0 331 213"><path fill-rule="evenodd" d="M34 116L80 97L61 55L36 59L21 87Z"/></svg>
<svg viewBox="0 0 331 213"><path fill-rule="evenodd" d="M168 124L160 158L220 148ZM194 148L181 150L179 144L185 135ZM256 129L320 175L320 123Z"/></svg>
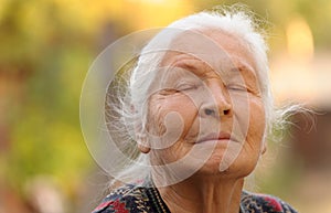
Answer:
<svg viewBox="0 0 331 213"><path fill-rule="evenodd" d="M202 33L204 39L179 36L173 43L178 51L167 52L151 86L151 163L169 167L183 179L188 171L245 177L264 149L265 109L256 64L236 36Z"/></svg>

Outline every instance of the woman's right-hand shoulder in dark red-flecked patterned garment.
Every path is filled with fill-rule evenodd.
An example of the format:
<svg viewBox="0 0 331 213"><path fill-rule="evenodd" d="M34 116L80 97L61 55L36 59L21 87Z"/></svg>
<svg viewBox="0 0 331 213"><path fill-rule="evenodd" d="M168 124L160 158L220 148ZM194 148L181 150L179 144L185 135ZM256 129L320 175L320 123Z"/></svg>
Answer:
<svg viewBox="0 0 331 213"><path fill-rule="evenodd" d="M242 207L245 212L255 213L297 213L295 209L279 198L246 191L242 194Z"/></svg>

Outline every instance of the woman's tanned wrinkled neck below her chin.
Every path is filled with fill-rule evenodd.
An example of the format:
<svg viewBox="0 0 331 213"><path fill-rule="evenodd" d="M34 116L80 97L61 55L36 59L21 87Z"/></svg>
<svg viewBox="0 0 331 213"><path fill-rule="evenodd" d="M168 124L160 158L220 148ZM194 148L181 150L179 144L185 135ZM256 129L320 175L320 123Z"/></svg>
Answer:
<svg viewBox="0 0 331 213"><path fill-rule="evenodd" d="M172 213L238 213L244 179L190 178L159 188Z"/></svg>

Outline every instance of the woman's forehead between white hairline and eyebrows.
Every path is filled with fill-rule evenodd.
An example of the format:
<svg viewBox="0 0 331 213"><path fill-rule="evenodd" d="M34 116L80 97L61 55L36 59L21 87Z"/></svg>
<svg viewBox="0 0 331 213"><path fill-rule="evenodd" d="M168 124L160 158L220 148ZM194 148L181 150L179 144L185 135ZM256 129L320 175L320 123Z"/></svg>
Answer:
<svg viewBox="0 0 331 213"><path fill-rule="evenodd" d="M246 66L254 73L256 71L256 62L247 43L242 38L218 29L182 32L173 39L169 50L161 60L161 66L171 65L186 55L185 57L194 57L214 71L226 71L233 66Z"/></svg>

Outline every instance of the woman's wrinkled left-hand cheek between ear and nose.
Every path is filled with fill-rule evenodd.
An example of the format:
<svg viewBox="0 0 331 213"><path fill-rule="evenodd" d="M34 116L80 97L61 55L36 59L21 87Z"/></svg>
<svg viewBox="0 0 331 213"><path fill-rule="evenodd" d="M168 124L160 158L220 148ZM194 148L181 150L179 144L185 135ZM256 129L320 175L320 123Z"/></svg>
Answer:
<svg viewBox="0 0 331 213"><path fill-rule="evenodd" d="M149 140L152 147L160 147L156 143L161 143L162 147L161 149L151 150L152 164L177 161L190 151L186 140L189 140L188 136L192 131L199 130L199 128L193 128L193 126L196 126L196 107L184 96L162 97L154 95L150 99L147 124L149 132L158 136L158 139L150 137ZM171 119L175 124L172 124Z"/></svg>

